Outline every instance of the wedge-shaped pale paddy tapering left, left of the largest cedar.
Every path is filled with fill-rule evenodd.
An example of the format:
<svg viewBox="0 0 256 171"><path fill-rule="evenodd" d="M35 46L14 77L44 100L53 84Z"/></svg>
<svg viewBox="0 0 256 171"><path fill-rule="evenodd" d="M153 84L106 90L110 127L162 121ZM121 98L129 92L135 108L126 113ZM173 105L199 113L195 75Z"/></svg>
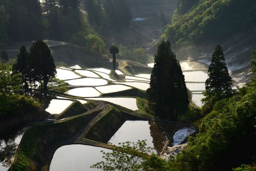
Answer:
<svg viewBox="0 0 256 171"><path fill-rule="evenodd" d="M137 99L135 98L87 98L87 99L111 102L116 105L123 106L127 109L131 109L132 111L138 110Z"/></svg>

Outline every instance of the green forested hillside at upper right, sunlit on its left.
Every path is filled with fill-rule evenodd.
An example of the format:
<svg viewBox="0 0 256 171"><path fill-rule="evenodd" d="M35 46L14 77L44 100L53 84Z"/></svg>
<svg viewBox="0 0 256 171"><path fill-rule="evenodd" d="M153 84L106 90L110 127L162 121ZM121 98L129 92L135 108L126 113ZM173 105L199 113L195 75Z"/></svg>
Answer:
<svg viewBox="0 0 256 171"><path fill-rule="evenodd" d="M184 42L221 41L255 25L255 6L255 0L181 0L163 37L177 46Z"/></svg>

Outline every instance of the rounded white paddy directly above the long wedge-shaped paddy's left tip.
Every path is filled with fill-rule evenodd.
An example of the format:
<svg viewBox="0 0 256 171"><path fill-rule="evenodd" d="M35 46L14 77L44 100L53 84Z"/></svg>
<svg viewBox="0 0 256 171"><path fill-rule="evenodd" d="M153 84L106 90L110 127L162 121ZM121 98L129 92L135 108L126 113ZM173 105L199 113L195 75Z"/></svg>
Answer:
<svg viewBox="0 0 256 171"><path fill-rule="evenodd" d="M80 96L80 97L98 97L99 95L101 95L101 93L99 93L97 90L95 90L92 87L75 88L75 89L69 90L66 93L72 96Z"/></svg>

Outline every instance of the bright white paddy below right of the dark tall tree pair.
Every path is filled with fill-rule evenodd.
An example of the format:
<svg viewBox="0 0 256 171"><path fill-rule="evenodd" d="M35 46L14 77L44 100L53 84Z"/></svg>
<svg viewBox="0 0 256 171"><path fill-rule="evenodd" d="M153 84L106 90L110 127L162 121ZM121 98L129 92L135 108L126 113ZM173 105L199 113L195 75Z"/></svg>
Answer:
<svg viewBox="0 0 256 171"><path fill-rule="evenodd" d="M57 100L52 99L50 102L50 105L47 109L45 109L46 112L49 112L50 114L60 114L63 112L66 108L68 108L69 105L71 105L73 101L69 100Z"/></svg>

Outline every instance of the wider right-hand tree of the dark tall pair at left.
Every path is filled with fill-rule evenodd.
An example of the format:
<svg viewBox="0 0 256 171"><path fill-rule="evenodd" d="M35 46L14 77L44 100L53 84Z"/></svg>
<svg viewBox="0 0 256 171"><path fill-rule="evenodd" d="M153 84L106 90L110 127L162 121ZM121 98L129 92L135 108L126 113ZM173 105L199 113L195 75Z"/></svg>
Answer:
<svg viewBox="0 0 256 171"><path fill-rule="evenodd" d="M47 90L49 79L56 74L56 66L47 44L42 40L33 42L30 48L30 58L33 60L35 74L38 78L37 81L41 85L41 89L43 81L43 89Z"/></svg>

